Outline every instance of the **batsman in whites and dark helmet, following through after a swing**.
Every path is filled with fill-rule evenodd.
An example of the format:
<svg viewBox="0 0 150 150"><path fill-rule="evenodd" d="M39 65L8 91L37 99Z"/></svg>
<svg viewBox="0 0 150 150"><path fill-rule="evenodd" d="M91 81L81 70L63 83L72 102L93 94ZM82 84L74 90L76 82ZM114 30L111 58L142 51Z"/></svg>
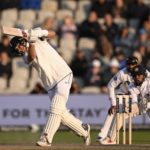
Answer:
<svg viewBox="0 0 150 150"><path fill-rule="evenodd" d="M90 145L90 126L75 118L66 108L73 74L66 62L47 42L55 32L41 28L23 31L23 37L10 41L11 53L23 56L26 63L38 72L51 100L47 123L37 141L38 146L51 146L60 123L68 126L83 137L85 145ZM42 101L41 101L42 102Z"/></svg>

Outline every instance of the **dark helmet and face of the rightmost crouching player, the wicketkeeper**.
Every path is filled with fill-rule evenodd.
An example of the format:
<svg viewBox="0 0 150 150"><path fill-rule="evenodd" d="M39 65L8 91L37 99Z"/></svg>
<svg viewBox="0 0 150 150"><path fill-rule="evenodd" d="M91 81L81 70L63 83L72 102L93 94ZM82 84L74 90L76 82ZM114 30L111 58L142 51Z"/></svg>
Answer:
<svg viewBox="0 0 150 150"><path fill-rule="evenodd" d="M145 69L142 65L138 65L138 66L136 66L136 67L133 69L132 74L133 74L133 78L134 78L134 83L135 83L135 85L136 85L136 86L140 86L140 85L143 83L143 81L144 81L144 79L145 79L145 77L146 77L146 69ZM143 75L143 77L142 77L143 79L138 80L138 79L136 78L137 75Z"/></svg>

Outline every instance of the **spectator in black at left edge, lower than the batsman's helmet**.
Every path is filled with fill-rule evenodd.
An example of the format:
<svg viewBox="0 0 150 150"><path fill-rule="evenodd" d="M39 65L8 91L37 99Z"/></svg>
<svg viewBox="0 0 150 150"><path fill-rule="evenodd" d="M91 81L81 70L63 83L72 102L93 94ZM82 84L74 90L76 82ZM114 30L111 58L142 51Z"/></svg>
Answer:
<svg viewBox="0 0 150 150"><path fill-rule="evenodd" d="M0 53L0 77L4 77L7 80L7 88L10 87L10 79L12 77L12 62L8 56L8 53L3 51Z"/></svg>

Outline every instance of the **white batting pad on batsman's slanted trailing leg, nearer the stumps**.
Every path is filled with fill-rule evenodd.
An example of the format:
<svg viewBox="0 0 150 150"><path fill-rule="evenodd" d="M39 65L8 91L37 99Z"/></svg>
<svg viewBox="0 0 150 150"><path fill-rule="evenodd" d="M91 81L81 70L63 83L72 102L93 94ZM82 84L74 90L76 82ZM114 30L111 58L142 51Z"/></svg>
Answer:
<svg viewBox="0 0 150 150"><path fill-rule="evenodd" d="M77 135L86 137L88 132L82 127L82 122L68 110L62 114L62 123L72 129Z"/></svg>

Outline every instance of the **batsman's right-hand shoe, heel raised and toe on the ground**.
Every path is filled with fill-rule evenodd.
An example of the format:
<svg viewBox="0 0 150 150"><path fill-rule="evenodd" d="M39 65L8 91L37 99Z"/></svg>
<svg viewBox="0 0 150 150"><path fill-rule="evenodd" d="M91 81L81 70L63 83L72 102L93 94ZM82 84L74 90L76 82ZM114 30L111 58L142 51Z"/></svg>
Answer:
<svg viewBox="0 0 150 150"><path fill-rule="evenodd" d="M86 146L89 146L91 144L90 125L82 124L82 126L88 132L87 136L84 137L84 143Z"/></svg>

